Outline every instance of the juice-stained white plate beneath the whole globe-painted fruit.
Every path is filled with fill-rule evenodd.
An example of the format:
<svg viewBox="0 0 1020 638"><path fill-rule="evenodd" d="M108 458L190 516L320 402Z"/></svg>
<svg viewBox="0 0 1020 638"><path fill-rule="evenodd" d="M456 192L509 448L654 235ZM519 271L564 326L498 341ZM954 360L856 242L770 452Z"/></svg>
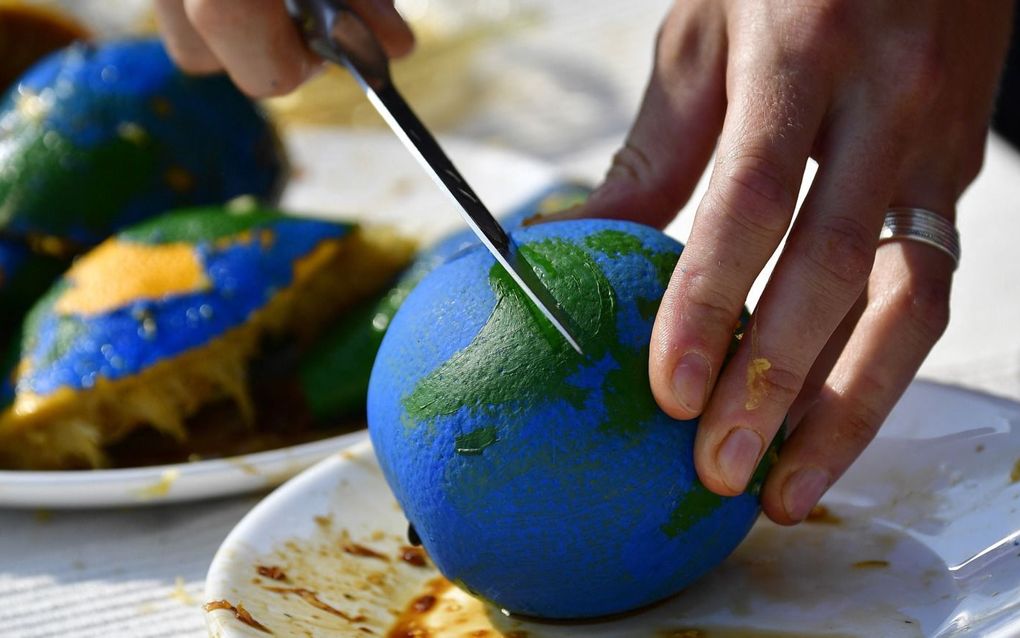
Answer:
<svg viewBox="0 0 1020 638"><path fill-rule="evenodd" d="M527 623L445 589L419 617L422 635L1017 636L1018 457L1020 404L916 382L826 496L838 521L762 520L688 591L612 622ZM397 558L405 531L366 442L256 506L216 553L206 601L240 603L275 636L386 635L437 577ZM381 557L345 552L351 543ZM230 609L206 611L206 624L220 638L266 635Z"/></svg>

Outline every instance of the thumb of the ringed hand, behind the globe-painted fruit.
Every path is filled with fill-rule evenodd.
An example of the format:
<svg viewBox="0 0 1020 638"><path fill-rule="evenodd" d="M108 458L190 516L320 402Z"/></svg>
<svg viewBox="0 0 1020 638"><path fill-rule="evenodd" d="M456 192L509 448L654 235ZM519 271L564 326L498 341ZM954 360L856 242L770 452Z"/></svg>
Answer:
<svg viewBox="0 0 1020 638"><path fill-rule="evenodd" d="M725 110L719 3L677 2L663 22L638 118L589 200L551 218L608 217L662 228L691 196Z"/></svg>

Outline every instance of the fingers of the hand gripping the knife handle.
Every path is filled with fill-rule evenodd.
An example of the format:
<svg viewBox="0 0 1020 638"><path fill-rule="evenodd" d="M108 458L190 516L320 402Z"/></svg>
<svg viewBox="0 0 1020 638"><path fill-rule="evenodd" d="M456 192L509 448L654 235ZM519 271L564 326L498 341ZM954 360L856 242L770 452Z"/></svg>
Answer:
<svg viewBox="0 0 1020 638"><path fill-rule="evenodd" d="M155 0L159 30L186 71L226 70L254 97L283 95L321 64L298 34L284 0ZM348 0L391 57L410 53L411 30L392 0Z"/></svg>

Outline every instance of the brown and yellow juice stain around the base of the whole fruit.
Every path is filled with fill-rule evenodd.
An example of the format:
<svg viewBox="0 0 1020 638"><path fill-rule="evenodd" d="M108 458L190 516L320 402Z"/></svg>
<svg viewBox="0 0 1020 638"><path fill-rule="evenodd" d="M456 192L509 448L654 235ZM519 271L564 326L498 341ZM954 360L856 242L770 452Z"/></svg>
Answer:
<svg viewBox="0 0 1020 638"><path fill-rule="evenodd" d="M217 598L243 603L275 636L387 638L920 636L918 609L951 611L946 566L909 536L861 520L852 506L815 519L824 524L760 522L694 587L597 622L506 616L443 578L421 548L408 546L401 525L349 529L327 514L313 517L308 536L239 557L243 578ZM245 623L226 606L207 614L224 630Z"/></svg>

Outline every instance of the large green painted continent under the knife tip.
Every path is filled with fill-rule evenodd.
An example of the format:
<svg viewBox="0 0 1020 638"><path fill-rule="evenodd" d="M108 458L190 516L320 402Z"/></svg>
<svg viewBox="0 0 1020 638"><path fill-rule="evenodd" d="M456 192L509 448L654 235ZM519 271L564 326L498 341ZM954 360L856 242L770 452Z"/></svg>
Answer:
<svg viewBox="0 0 1020 638"><path fill-rule="evenodd" d="M649 258L657 274L668 279L675 253L653 253L640 241L623 241L625 233L605 231L586 240L592 249L607 256L639 253ZM463 350L419 381L403 399L406 416L430 424L442 415L467 407L482 418L497 418L508 403L528 409L538 403L561 399L581 408L592 390L571 385L567 379L581 365L607 355L615 367L606 376L602 392L606 415L603 432L633 433L656 408L644 371L647 346L620 344L616 329L616 293L581 247L559 239L524 244L521 253L536 267L539 278L569 316L574 317L584 358L577 355L555 329L532 307L501 266L489 273L496 307L474 340ZM663 273L665 271L665 273ZM512 353L511 353L512 352ZM513 361L513 367L496 367L493 361Z"/></svg>

